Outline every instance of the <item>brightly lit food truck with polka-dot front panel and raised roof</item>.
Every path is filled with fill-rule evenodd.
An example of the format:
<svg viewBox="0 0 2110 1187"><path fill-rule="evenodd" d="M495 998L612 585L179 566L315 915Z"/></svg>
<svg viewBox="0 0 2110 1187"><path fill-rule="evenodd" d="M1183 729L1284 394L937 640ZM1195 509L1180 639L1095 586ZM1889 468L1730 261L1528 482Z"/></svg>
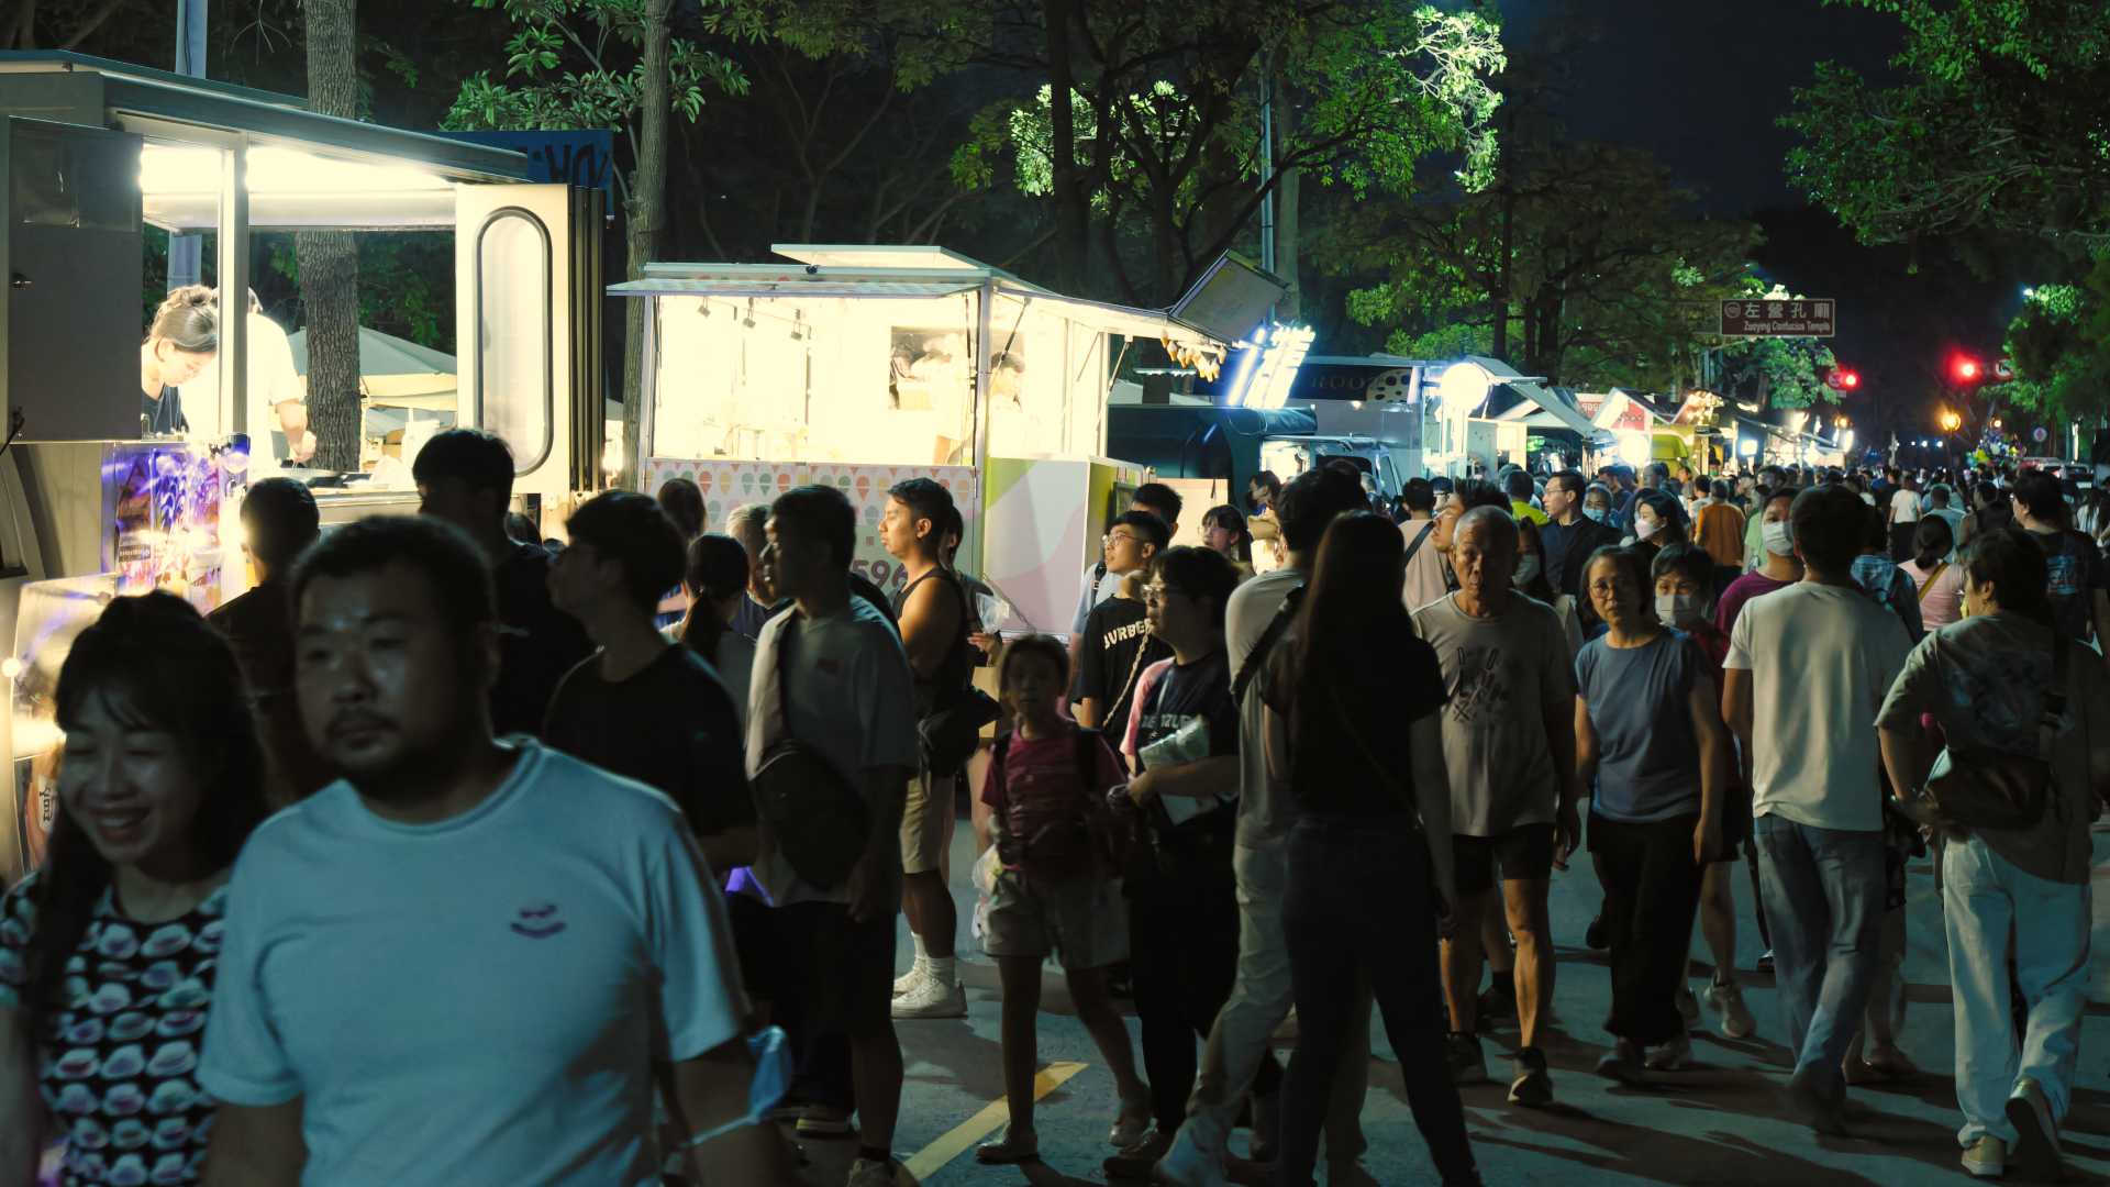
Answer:
<svg viewBox="0 0 2110 1187"><path fill-rule="evenodd" d="M1123 357L1156 342L1217 365L1226 342L1163 310L1055 294L943 247L776 245L776 264L650 264L610 294L646 302L644 490L703 488L711 524L829 484L859 515L857 568L886 490L943 484L1011 632L1070 629L1110 515L1148 479L1106 456ZM987 623L998 625L998 623Z"/></svg>

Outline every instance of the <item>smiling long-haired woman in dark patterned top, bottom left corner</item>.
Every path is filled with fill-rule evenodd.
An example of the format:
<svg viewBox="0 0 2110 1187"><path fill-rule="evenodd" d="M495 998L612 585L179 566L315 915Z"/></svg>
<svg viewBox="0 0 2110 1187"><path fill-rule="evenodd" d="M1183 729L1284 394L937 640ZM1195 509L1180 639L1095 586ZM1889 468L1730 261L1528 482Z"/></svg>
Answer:
<svg viewBox="0 0 2110 1187"><path fill-rule="evenodd" d="M118 598L59 670L59 817L0 902L0 1187L198 1183L196 1081L228 870L264 817L234 655L181 598Z"/></svg>

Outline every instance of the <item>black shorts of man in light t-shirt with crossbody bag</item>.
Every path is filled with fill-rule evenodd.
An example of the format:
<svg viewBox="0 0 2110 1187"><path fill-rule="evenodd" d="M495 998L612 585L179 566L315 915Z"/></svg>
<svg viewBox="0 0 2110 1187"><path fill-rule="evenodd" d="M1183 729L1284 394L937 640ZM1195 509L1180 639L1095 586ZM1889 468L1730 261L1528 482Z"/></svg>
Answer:
<svg viewBox="0 0 2110 1187"><path fill-rule="evenodd" d="M795 902L776 917L776 974L770 984L798 995L804 1024L850 1039L890 1033L895 1016L895 915L850 921L840 902Z"/></svg>

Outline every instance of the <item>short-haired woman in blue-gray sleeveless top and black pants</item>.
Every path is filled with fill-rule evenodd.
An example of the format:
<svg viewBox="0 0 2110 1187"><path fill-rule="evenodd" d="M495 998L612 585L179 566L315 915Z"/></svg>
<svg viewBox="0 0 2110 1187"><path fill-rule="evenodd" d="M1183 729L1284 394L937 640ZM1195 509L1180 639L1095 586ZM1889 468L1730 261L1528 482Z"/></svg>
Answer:
<svg viewBox="0 0 2110 1187"><path fill-rule="evenodd" d="M1728 729L1707 659L1656 619L1637 549L1599 549L1582 587L1610 627L1576 657L1576 769L1593 775L1589 847L1604 881L1616 1037L1597 1071L1635 1079L1692 1056L1677 1007L1701 872L1718 849Z"/></svg>

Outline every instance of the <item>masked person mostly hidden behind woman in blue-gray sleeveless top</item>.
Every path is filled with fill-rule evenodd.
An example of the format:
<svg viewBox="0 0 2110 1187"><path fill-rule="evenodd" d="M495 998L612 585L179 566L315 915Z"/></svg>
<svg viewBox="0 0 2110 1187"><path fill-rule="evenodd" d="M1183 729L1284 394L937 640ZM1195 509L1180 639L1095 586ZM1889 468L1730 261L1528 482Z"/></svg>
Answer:
<svg viewBox="0 0 2110 1187"><path fill-rule="evenodd" d="M1671 629L1684 632L1707 657L1707 674L1722 699L1722 661L1728 659L1728 636L1713 625L1713 555L1699 545L1671 545L1656 553L1650 577L1656 581L1656 617ZM1701 877L1701 936L1713 957L1713 976L1707 988L1694 999L1690 991L1680 993L1680 1007L1690 1020L1699 1018L1699 1003L1705 1001L1722 1018L1722 1035L1747 1039L1758 1031L1751 1007L1743 1001L1743 984L1737 980L1737 898L1730 887L1734 864L1745 858L1743 849L1751 839L1751 794L1737 779L1724 784L1728 794L1722 805L1722 841L1715 860ZM1756 860L1756 851L1749 853ZM1758 902L1758 866L1751 864L1751 902ZM1758 934L1764 942L1766 921L1760 917Z"/></svg>

